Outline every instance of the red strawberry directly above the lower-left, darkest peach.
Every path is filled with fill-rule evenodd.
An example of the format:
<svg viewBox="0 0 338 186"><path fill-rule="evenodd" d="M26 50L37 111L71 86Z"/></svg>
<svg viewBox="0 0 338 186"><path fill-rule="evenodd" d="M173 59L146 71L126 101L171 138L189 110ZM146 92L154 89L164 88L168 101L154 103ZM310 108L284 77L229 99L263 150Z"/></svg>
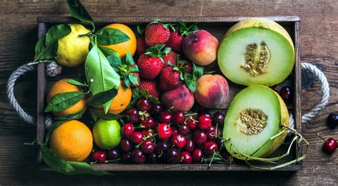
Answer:
<svg viewBox="0 0 338 186"><path fill-rule="evenodd" d="M160 90L169 91L182 85L180 69L176 66L165 66L160 72Z"/></svg>

